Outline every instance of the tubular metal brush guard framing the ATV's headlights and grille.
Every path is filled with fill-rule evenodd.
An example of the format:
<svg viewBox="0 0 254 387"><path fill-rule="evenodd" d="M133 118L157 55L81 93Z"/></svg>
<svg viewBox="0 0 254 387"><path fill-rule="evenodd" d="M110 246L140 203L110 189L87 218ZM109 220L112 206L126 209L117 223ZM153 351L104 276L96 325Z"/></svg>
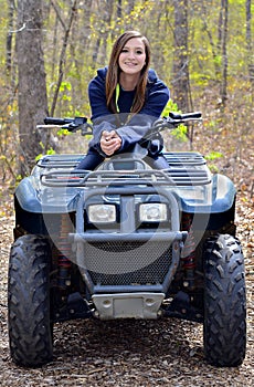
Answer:
<svg viewBox="0 0 254 387"><path fill-rule="evenodd" d="M87 201L93 197L105 197L105 196L119 196L120 199L120 215L128 212L128 222L120 219L119 230L110 231L107 230L86 230L84 224L84 211L86 208ZM130 198L130 201L134 203L135 195L159 195L167 200L167 203L170 207L171 221L169 221L170 229L163 227L159 231L140 231L135 229L135 211L127 211L127 201ZM142 186L136 184L135 186L107 186L107 187L94 187L89 190L85 190L81 194L77 202L76 211L76 232L70 233L70 239L74 244L74 250L76 252L76 264L78 265L82 278L87 286L87 290L91 294L105 294L105 293L134 293L134 292L158 292L167 293L170 283L173 279L173 275L179 266L180 252L182 244L187 238L187 231L179 231L179 207L178 202L169 190L161 188L159 186ZM170 262L170 268L162 283L158 284L116 284L116 285L100 285L95 284L89 274L89 270L86 264L86 253L85 248L88 243L99 243L99 242L168 242L168 245L172 247L172 261ZM105 254L107 252L105 251Z"/></svg>

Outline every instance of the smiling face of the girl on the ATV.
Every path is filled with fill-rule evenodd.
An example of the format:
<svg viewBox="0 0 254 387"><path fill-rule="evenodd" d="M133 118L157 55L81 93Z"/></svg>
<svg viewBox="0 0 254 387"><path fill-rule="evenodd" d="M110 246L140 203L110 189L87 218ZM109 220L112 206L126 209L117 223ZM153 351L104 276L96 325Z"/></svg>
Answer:
<svg viewBox="0 0 254 387"><path fill-rule="evenodd" d="M123 48L118 64L120 70L129 75L140 73L146 64L146 48L141 38L131 38Z"/></svg>

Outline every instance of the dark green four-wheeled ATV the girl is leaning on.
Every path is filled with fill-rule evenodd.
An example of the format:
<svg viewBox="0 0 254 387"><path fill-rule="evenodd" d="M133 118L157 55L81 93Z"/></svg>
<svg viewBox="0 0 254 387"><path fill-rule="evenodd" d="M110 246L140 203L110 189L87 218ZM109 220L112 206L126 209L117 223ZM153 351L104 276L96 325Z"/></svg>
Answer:
<svg viewBox="0 0 254 387"><path fill-rule="evenodd" d="M170 113L148 139L200 117ZM93 129L85 117L47 117L45 126ZM168 169L158 170L137 147L93 171L75 169L83 155L46 155L17 187L8 318L18 365L52 360L56 322L167 317L203 324L211 365L242 364L246 300L233 182L212 175L197 151L165 151Z"/></svg>

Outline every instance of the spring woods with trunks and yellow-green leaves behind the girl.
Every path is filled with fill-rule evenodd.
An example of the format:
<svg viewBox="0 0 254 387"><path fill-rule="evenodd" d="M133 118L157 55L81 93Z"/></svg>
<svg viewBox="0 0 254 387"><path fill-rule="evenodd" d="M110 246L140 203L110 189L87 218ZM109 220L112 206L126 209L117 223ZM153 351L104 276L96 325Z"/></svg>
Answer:
<svg viewBox="0 0 254 387"><path fill-rule="evenodd" d="M46 115L89 116L89 80L107 64L116 36L138 29L170 87L172 109L202 111L189 146L213 167L231 168L232 178L242 164L247 178L237 184L253 196L252 0L0 0L0 7L3 180L29 174L38 155L62 150L63 136L36 124ZM84 151L77 137L67 151Z"/></svg>

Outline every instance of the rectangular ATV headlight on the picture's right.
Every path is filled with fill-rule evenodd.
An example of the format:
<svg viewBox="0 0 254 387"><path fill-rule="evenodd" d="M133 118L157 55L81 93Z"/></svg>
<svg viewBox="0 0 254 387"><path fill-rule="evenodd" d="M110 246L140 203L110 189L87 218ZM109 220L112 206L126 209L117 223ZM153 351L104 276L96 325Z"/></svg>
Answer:
<svg viewBox="0 0 254 387"><path fill-rule="evenodd" d="M139 206L141 222L162 222L168 219L166 203L142 203Z"/></svg>

